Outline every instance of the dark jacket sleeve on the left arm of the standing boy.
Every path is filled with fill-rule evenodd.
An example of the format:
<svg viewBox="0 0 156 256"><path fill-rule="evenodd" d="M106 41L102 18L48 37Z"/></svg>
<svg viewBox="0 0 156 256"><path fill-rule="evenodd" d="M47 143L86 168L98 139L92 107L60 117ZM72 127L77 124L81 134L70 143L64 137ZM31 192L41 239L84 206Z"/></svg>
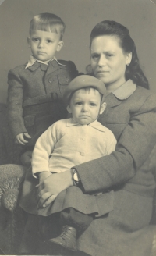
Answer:
<svg viewBox="0 0 156 256"><path fill-rule="evenodd" d="M15 69L8 74L8 119L13 137L27 133L23 120L23 83Z"/></svg>

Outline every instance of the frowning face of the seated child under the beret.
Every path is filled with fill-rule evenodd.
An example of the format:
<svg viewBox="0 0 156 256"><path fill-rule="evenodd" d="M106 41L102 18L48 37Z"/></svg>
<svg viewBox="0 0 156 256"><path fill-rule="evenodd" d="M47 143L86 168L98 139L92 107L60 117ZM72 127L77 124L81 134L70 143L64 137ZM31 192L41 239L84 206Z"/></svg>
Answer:
<svg viewBox="0 0 156 256"><path fill-rule="evenodd" d="M106 103L101 105L101 94L90 88L90 91L80 89L76 91L67 107L73 119L82 125L94 122L98 115L104 112Z"/></svg>

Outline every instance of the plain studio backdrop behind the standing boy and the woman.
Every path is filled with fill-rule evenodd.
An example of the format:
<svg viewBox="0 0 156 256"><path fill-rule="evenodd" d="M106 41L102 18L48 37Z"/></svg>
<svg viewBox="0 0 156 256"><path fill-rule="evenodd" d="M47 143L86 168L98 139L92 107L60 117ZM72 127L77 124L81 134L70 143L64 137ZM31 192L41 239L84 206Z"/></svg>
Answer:
<svg viewBox="0 0 156 256"><path fill-rule="evenodd" d="M58 59L72 60L85 73L90 63L90 31L102 20L115 20L129 28L140 64L156 92L155 0L0 0L0 103L7 98L9 69L27 62L30 20L41 12L52 12L66 23L65 42Z"/></svg>

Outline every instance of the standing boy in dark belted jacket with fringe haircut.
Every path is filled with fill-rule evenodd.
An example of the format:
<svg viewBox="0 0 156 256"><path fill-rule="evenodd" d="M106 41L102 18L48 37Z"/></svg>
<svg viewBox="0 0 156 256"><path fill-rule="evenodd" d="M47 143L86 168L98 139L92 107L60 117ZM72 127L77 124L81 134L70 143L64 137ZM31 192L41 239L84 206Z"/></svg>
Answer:
<svg viewBox="0 0 156 256"><path fill-rule="evenodd" d="M41 13L30 21L30 59L9 71L8 116L12 137L23 146L29 165L38 137L58 119L66 118L62 94L78 75L73 62L57 60L65 23L55 14Z"/></svg>

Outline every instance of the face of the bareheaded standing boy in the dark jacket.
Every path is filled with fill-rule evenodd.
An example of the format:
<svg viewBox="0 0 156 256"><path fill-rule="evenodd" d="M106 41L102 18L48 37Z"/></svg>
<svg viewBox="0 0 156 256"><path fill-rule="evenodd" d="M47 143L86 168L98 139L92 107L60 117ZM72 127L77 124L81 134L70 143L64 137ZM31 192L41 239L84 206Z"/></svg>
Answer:
<svg viewBox="0 0 156 256"><path fill-rule="evenodd" d="M42 30L34 30L27 41L34 57L42 62L52 59L63 46L60 34Z"/></svg>

